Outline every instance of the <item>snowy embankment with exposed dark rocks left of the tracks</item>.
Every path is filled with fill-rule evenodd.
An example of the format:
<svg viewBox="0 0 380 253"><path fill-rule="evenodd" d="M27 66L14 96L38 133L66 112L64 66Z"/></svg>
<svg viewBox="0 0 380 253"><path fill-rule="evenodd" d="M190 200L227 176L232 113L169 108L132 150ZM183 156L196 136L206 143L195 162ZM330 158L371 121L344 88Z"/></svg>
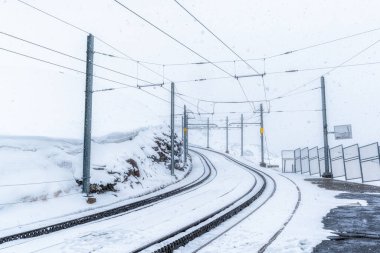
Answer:
<svg viewBox="0 0 380 253"><path fill-rule="evenodd" d="M188 168L178 168L176 177L170 175L166 132L166 127L156 127L93 139L91 191L97 198L93 205L82 194L81 141L0 137L1 230L104 207L181 180ZM179 159L178 139L175 150Z"/></svg>

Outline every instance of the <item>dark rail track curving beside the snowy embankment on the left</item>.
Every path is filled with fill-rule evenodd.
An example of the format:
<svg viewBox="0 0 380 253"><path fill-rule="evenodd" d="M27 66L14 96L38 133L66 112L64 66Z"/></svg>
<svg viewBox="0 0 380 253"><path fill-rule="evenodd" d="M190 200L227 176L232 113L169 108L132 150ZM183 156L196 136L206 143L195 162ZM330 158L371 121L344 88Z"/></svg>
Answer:
<svg viewBox="0 0 380 253"><path fill-rule="evenodd" d="M35 228L35 229L24 231L24 232L3 236L3 237L0 237L0 244L15 241L18 239L27 239L27 238L33 238L33 237L37 237L41 235L46 235L46 234L50 234L50 233L57 232L60 230L72 228L78 225L82 225L82 224L86 224L86 223L90 223L94 221L99 221L106 218L117 217L118 215L122 215L124 213L131 212L134 210L140 210L141 208L144 208L146 206L152 205L154 203L158 203L160 201L163 201L165 199L171 198L176 195L180 195L189 190L196 189L203 183L205 182L207 183L211 175L212 175L211 169L209 169L208 166L204 166L203 173L198 178L196 178L194 181L186 185L183 185L182 187L176 188L171 191L167 191L162 194L154 195L152 197L148 197L139 201L135 201L126 205L118 206L116 208L111 208L105 211L93 213L93 214L75 218L75 219L70 219L64 222L59 222L56 224L42 226L40 228Z"/></svg>

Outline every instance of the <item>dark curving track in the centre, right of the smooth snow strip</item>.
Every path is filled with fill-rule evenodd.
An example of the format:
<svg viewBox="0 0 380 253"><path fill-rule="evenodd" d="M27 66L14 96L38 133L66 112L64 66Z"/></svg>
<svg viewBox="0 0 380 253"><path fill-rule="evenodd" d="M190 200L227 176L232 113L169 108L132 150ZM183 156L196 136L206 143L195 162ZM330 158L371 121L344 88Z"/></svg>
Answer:
<svg viewBox="0 0 380 253"><path fill-rule="evenodd" d="M254 169L253 167L246 165L223 153L212 151L209 149L206 149L206 150L216 153L226 158L227 160L233 163L236 163L239 166L243 167L244 169L248 170L249 173L253 177L256 178L255 183L247 192L245 192L242 196L240 196L238 199L234 200L233 202L228 203L226 206L218 209L217 211L207 216L204 216L203 218L198 219L197 221L187 226L181 227L177 229L176 231L171 232L170 234L167 234L151 243L148 243L144 246L141 246L135 249L134 251L132 251L133 253L135 252L157 252L157 253L165 252L167 253L167 252L173 252L174 250L186 245L190 241L218 227L220 224L229 220L230 218L238 214L240 211L242 211L243 209L251 205L255 200L260 198L263 195L263 192L266 190L267 178L271 180L271 184L273 187L270 190L271 193L266 197L263 203L260 204L260 206L262 206L269 198L273 196L273 193L276 189L276 184L275 184L275 181L269 175L261 171L258 171ZM194 149L193 151L196 152ZM211 161L207 158L207 156L205 156L204 154L200 152L198 152L198 154L201 155L203 159L208 160L208 163L211 166L214 166L211 163ZM208 240L207 242L203 243L202 246L199 247L199 249L203 248L204 246L212 242L214 239Z"/></svg>

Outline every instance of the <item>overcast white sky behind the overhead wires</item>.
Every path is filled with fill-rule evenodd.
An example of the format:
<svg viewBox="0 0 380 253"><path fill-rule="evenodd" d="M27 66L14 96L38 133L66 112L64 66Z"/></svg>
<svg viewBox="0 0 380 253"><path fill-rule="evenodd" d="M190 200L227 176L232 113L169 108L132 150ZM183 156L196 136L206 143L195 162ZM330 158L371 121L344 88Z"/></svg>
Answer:
<svg viewBox="0 0 380 253"><path fill-rule="evenodd" d="M160 64L201 61L198 56L176 44L157 30L133 16L113 0L25 0L49 13L75 24L102 38L127 55ZM231 52L185 13L173 0L120 0L157 26L184 42L206 58L235 60ZM324 0L192 0L180 1L212 31L244 58L261 58L283 53L380 27L378 1ZM63 25L17 0L0 2L0 31L45 46L85 58L86 34ZM329 45L265 61L267 72L334 66L349 59L380 39L380 31ZM0 35L0 47L47 59L84 71L85 65L46 50ZM380 43L374 45L349 63L379 61ZM116 51L95 41L95 50L110 54ZM45 135L81 138L83 133L84 76L68 70L37 63L0 50L0 134ZM137 64L95 55L97 64L137 75ZM263 61L251 61L263 71ZM162 66L150 66L162 73ZM220 64L233 74L249 74L244 64ZM236 72L235 72L236 68ZM267 75L267 97L273 98L319 77L327 70L294 74ZM95 69L107 78L135 85L136 81ZM161 82L162 77L138 68L139 77ZM380 114L380 65L339 69L326 76L329 124L351 123L354 139L343 142L367 144L378 140ZM165 76L171 80L187 80L225 76L213 66L166 67ZM250 100L264 98L261 78L241 80ZM319 86L313 82L302 90ZM117 84L95 80L94 88L119 87ZM169 86L167 86L169 88ZM169 99L160 88L149 91ZM244 100L238 83L232 79L202 83L178 84L177 91L190 97L209 100ZM197 104L196 99L189 99ZM178 105L182 106L178 101ZM196 108L190 108L196 111ZM204 110L212 104L200 103ZM179 108L177 108L179 110ZM320 91L307 92L287 99L273 101L271 109L320 109ZM244 111L248 105L215 107L216 112ZM121 89L94 95L94 134L157 124L169 113L165 102L141 91ZM224 118L217 114L212 120ZM231 115L230 115L231 116ZM231 116L237 118L238 115ZM246 117L252 117L247 113ZM253 120L252 120L253 121ZM320 145L321 113L295 112L266 115L266 133L270 148ZM251 127L247 135L258 143L258 129ZM341 142L339 142L341 143ZM339 144L332 142L332 145Z"/></svg>

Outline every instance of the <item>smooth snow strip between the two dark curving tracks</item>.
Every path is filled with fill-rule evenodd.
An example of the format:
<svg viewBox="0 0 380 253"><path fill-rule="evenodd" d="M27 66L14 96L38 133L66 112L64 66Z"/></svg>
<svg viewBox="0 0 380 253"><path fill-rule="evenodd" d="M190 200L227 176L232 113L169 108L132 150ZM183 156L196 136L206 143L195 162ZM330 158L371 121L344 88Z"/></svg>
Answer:
<svg viewBox="0 0 380 253"><path fill-rule="evenodd" d="M1 245L0 249L2 252L131 251L229 205L256 185L255 177L247 170L220 159L219 155L208 156L216 171L212 171L212 176L195 189L125 215L38 238L14 241ZM195 155L191 174L200 174L203 170L204 165ZM256 192L258 189L260 187Z"/></svg>

